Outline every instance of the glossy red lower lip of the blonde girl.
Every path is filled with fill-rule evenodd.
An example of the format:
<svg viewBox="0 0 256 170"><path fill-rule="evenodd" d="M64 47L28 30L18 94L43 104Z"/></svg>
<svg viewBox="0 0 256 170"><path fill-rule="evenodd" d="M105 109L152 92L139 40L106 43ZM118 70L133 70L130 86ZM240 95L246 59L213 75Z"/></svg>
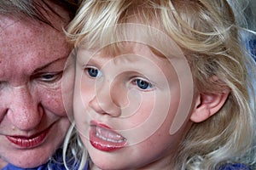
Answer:
<svg viewBox="0 0 256 170"><path fill-rule="evenodd" d="M91 127L90 128L90 144L97 150L109 152L109 151L120 150L124 148L126 141L121 143L114 143L114 142L109 142L109 141L100 139L96 136L95 128Z"/></svg>

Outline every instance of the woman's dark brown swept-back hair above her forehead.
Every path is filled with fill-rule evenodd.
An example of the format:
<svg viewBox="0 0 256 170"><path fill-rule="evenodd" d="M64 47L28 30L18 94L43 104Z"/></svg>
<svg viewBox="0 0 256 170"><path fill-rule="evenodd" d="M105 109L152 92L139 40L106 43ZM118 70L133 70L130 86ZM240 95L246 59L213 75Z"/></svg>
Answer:
<svg viewBox="0 0 256 170"><path fill-rule="evenodd" d="M4 5L6 8L3 8L5 7ZM19 4L7 2L6 4L3 3L3 7L0 7L0 23L3 22L4 18L15 21L26 20L31 22L29 26L44 22L56 30L62 31L62 28L67 26L71 20L71 11L64 8L64 5L61 5L61 3L55 3L52 0L34 1L33 3L21 1Z"/></svg>

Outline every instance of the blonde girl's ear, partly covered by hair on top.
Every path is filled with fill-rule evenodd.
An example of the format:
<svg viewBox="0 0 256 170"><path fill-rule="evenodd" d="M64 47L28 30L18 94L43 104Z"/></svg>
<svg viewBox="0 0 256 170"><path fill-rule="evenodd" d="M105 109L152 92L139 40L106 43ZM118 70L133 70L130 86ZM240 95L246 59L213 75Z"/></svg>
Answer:
<svg viewBox="0 0 256 170"><path fill-rule="evenodd" d="M217 113L224 105L229 92L222 94L200 94L195 101L195 108L190 116L192 122L203 122Z"/></svg>

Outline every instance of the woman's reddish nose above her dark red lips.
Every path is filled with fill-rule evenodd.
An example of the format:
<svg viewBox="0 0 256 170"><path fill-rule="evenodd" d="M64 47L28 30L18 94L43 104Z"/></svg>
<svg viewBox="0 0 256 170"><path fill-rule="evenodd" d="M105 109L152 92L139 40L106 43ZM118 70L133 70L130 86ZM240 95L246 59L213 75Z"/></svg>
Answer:
<svg viewBox="0 0 256 170"><path fill-rule="evenodd" d="M32 94L27 86L22 86L12 88L9 97L9 121L20 130L32 130L37 127L44 115L44 109L38 102L38 95Z"/></svg>

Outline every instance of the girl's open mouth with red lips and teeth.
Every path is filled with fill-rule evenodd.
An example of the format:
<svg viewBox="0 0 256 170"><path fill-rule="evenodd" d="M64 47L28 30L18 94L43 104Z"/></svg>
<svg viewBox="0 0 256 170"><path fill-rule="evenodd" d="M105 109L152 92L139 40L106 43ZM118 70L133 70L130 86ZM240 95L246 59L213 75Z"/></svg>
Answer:
<svg viewBox="0 0 256 170"><path fill-rule="evenodd" d="M104 124L91 123L90 144L97 150L113 151L125 147L126 139Z"/></svg>

